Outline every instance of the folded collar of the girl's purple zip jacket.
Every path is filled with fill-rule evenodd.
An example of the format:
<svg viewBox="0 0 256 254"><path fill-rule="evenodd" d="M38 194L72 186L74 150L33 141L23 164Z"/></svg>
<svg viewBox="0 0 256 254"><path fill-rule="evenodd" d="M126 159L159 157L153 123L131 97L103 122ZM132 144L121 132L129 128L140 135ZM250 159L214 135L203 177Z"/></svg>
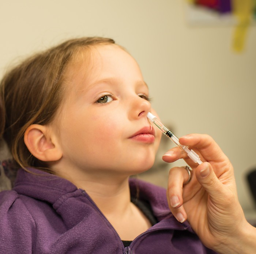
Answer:
<svg viewBox="0 0 256 254"><path fill-rule="evenodd" d="M55 208L61 202L60 200L67 197L84 196L84 191L78 190L74 184L64 178L35 168L29 168L28 170L30 173L20 169L17 174L13 189L20 195L46 201ZM179 223L173 217L167 203L166 189L136 178L130 178L129 185L131 195L149 202L158 221L162 221L162 223L157 223L153 227L172 227L178 230L188 229L192 231L187 222ZM89 197L89 195L86 196ZM92 202L92 200L89 201Z"/></svg>

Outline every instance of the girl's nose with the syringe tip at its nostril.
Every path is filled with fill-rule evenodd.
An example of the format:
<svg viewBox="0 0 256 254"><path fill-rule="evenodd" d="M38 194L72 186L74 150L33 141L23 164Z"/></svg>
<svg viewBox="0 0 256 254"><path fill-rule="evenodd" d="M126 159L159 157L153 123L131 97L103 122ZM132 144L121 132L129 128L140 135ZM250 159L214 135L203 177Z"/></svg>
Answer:
<svg viewBox="0 0 256 254"><path fill-rule="evenodd" d="M143 117L147 115L150 109L151 109L151 103L148 100L140 96L137 96L135 99L133 99L133 102L132 102L131 116L133 118Z"/></svg>

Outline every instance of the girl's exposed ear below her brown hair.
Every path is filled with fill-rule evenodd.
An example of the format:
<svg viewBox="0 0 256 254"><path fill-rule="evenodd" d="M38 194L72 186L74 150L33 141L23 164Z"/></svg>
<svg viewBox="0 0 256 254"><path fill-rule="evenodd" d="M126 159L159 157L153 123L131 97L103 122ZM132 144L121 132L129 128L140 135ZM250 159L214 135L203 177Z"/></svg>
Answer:
<svg viewBox="0 0 256 254"><path fill-rule="evenodd" d="M41 161L57 161L62 151L49 127L32 124L25 131L24 142L30 153Z"/></svg>

